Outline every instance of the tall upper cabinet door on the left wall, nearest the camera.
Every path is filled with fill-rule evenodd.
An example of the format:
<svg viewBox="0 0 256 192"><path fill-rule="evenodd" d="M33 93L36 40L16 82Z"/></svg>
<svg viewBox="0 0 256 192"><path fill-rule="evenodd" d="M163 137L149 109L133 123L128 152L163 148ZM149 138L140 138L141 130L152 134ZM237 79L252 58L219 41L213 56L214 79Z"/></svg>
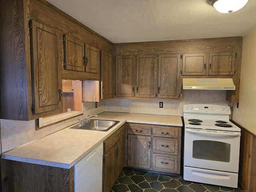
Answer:
<svg viewBox="0 0 256 192"><path fill-rule="evenodd" d="M61 61L58 58L61 35L38 22L30 22L33 114L62 110Z"/></svg>

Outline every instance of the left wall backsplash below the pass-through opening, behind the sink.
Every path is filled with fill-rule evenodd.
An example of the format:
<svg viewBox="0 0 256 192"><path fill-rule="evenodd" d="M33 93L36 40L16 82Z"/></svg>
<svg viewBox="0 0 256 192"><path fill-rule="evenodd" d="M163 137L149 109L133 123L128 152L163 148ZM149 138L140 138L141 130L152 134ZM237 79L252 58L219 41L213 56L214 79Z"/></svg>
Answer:
<svg viewBox="0 0 256 192"><path fill-rule="evenodd" d="M90 113L99 114L104 112L104 102L99 102L97 108L95 108L95 102L84 102L83 104L84 115L76 116L40 130L36 130L35 120L15 121L0 119L1 153L75 124L78 122L78 118L86 118Z"/></svg>

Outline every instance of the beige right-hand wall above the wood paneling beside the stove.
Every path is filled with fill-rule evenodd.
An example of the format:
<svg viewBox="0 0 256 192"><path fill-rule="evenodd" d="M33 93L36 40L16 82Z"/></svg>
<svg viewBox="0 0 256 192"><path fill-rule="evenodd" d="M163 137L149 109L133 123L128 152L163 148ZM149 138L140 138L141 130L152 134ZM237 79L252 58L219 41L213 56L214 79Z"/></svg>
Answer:
<svg viewBox="0 0 256 192"><path fill-rule="evenodd" d="M256 28L243 38L239 106L232 120L256 135Z"/></svg>

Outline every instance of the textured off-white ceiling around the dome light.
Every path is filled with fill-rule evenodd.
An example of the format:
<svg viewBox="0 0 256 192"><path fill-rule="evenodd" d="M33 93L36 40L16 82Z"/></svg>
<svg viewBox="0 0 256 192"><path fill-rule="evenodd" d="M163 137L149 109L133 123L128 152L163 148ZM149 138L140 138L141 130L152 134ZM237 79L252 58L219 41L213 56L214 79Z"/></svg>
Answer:
<svg viewBox="0 0 256 192"><path fill-rule="evenodd" d="M47 0L113 43L244 36L256 0L230 14L208 0Z"/></svg>

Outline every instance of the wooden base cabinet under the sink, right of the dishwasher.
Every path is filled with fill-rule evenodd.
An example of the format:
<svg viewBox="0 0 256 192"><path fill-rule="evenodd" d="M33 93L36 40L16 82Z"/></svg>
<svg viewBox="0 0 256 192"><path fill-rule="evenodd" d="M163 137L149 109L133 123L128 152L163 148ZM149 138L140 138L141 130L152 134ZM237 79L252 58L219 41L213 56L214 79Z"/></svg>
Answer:
<svg viewBox="0 0 256 192"><path fill-rule="evenodd" d="M109 192L125 166L126 124L104 141L103 192Z"/></svg>

